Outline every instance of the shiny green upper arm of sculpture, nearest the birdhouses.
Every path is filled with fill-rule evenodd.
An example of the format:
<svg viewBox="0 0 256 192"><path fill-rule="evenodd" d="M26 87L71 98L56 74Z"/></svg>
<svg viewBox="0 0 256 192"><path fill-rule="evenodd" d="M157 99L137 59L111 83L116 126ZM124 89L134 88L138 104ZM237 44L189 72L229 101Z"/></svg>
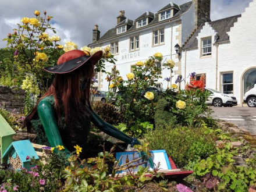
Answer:
<svg viewBox="0 0 256 192"><path fill-rule="evenodd" d="M54 116L54 103L51 101L54 101L54 99L52 100L46 97L39 102L37 106L38 116L42 122L42 127L44 127L45 135L47 136L51 147L56 147L58 145L63 146L61 134L59 134L56 118ZM69 153L66 147L65 151Z"/></svg>

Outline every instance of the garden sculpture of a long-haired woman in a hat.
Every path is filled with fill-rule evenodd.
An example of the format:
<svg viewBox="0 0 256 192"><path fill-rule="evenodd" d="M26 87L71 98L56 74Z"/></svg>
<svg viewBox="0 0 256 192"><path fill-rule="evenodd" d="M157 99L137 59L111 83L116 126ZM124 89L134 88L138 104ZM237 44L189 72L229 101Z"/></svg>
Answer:
<svg viewBox="0 0 256 192"><path fill-rule="evenodd" d="M90 55L74 49L61 55L58 65L44 68L49 73L55 73L55 79L24 122L28 131L34 119L41 122L39 126L33 126L39 143L48 143L51 147L63 145L67 154L74 151L75 145L79 145L84 149L80 158L85 158L87 135L93 122L109 136L128 144L140 144L106 123L91 108L90 83L94 76L94 65L101 56L102 51ZM151 158L149 162L152 166Z"/></svg>

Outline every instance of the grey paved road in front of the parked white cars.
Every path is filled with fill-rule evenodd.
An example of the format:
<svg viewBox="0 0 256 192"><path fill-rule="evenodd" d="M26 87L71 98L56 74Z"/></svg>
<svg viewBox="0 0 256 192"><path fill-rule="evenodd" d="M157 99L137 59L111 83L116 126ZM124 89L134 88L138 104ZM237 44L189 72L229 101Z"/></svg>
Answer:
<svg viewBox="0 0 256 192"><path fill-rule="evenodd" d="M212 107L214 119L222 119L256 134L256 108L249 107Z"/></svg>

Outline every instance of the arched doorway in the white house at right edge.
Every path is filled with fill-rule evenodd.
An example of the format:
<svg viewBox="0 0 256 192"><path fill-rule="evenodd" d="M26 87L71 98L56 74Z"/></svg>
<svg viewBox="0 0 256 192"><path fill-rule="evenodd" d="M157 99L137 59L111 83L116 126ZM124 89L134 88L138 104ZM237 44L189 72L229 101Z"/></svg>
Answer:
<svg viewBox="0 0 256 192"><path fill-rule="evenodd" d="M248 69L243 76L243 95L256 84L256 67Z"/></svg>

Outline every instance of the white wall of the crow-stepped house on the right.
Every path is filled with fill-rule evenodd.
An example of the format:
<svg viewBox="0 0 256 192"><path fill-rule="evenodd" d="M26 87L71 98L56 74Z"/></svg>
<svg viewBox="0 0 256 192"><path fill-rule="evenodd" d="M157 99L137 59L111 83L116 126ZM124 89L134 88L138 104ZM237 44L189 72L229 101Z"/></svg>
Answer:
<svg viewBox="0 0 256 192"><path fill-rule="evenodd" d="M256 68L256 0L249 4L246 12L241 14L234 27L231 27L229 34L230 42L220 42L218 47L218 80L216 80L216 47L212 45L211 58L200 59L200 44L198 48L183 51L182 74L188 75L191 72L197 74L206 73L206 87L215 88L221 91L221 73L233 72L233 94L241 105L243 98L242 83L243 74L251 67ZM206 23L206 26L198 34L202 37L214 38L214 30ZM199 41L199 40L198 40ZM212 41L214 42L214 41ZM186 56L185 56L186 54ZM185 62L186 58L186 62ZM186 72L185 72L186 63ZM189 77L186 78L189 81Z"/></svg>

